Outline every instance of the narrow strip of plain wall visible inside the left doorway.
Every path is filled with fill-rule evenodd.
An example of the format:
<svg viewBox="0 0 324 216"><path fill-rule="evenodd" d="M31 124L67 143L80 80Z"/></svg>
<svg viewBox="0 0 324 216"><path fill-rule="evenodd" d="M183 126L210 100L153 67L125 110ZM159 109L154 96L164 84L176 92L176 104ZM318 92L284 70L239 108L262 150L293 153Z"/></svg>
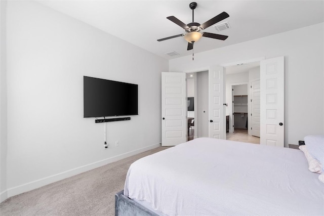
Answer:
<svg viewBox="0 0 324 216"><path fill-rule="evenodd" d="M208 137L208 71L197 72L197 137ZM205 111L205 112L204 112Z"/></svg>

